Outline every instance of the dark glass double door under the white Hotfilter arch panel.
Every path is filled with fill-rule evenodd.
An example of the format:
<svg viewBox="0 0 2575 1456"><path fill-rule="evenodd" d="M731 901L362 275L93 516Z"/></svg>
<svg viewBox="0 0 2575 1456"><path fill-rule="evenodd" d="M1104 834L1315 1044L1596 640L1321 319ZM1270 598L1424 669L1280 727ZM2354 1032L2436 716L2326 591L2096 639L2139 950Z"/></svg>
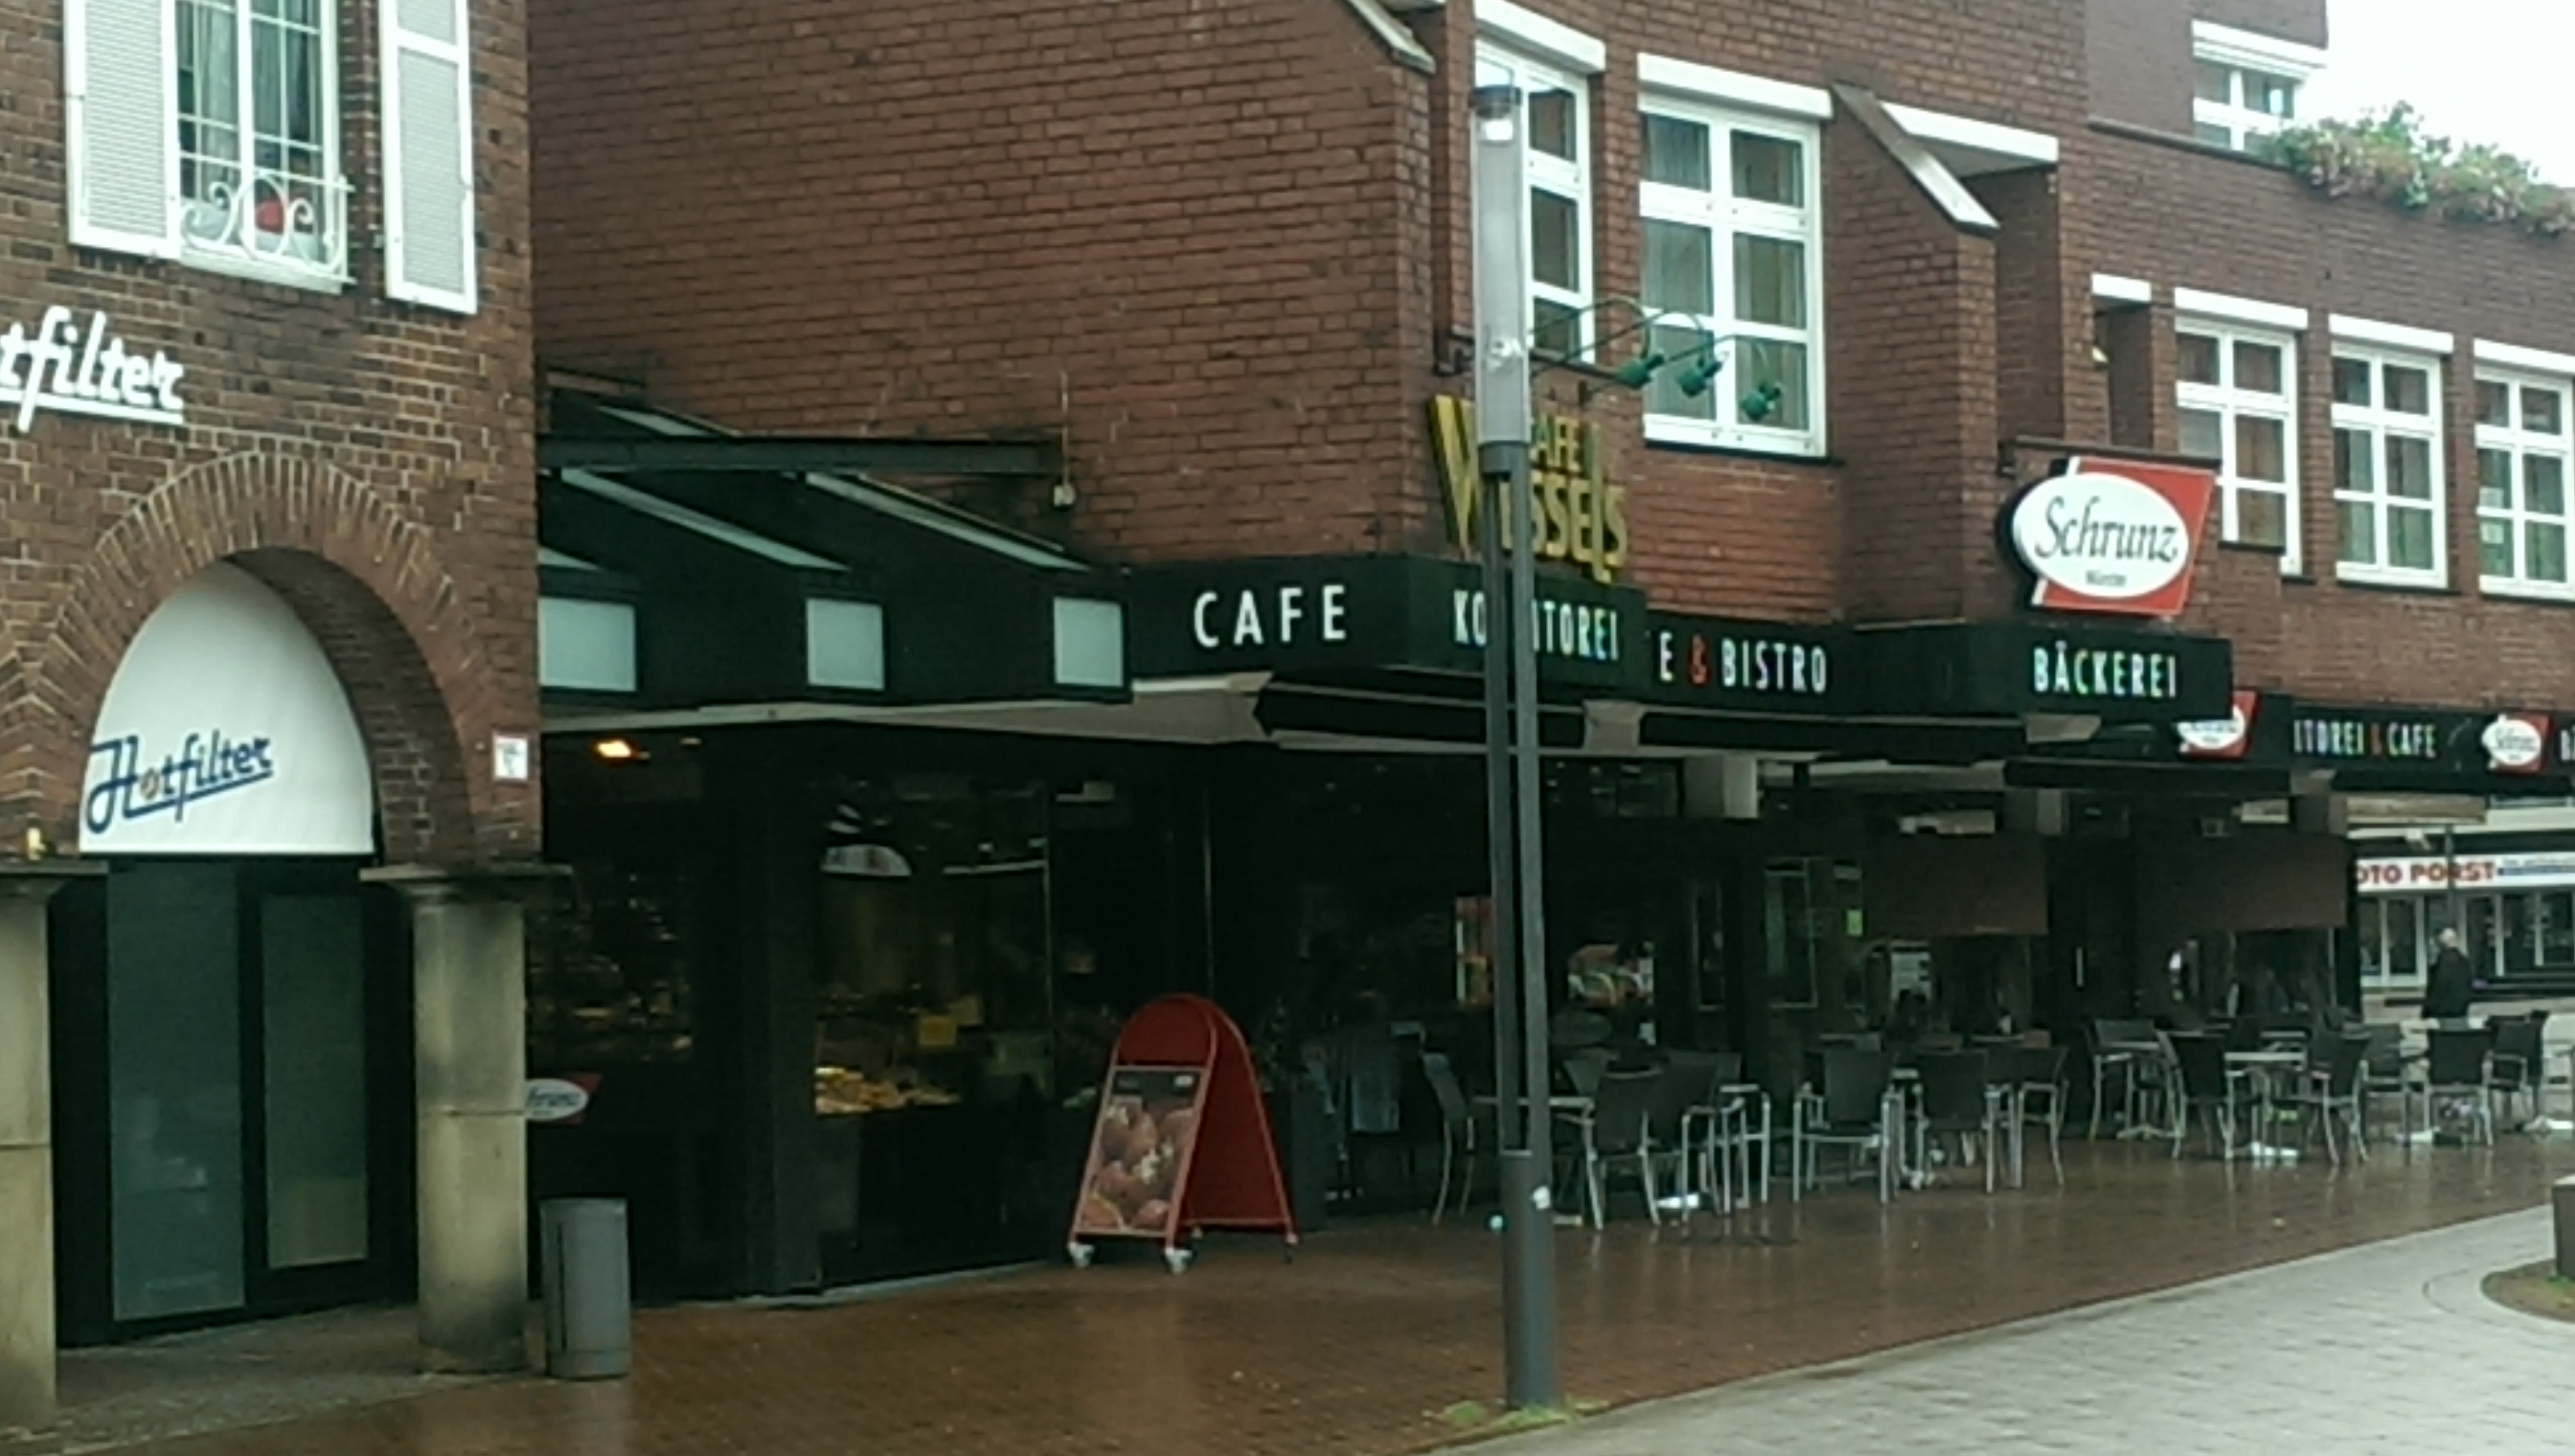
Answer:
<svg viewBox="0 0 2575 1456"><path fill-rule="evenodd" d="M100 886L103 995L72 997L62 1046L75 1337L309 1309L386 1294L404 1250L409 1028L389 997L389 923L345 863L136 861ZM75 961L82 951L70 951ZM85 1023L85 1026L82 1026ZM386 1054L384 1049L404 1054Z"/></svg>

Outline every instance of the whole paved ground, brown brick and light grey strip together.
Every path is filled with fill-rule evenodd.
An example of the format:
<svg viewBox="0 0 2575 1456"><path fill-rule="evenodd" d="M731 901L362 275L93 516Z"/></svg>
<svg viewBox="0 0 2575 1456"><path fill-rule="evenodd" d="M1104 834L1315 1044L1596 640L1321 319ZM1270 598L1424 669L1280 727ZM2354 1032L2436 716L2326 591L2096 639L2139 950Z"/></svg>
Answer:
<svg viewBox="0 0 2575 1456"><path fill-rule="evenodd" d="M2323 1160L2176 1162L2160 1144L2073 1144L2065 1162L2065 1188L2042 1162L2021 1191L1988 1196L1980 1180L1954 1180L1880 1206L1867 1188L1833 1188L1805 1203L1772 1203L1725 1229L1710 1219L1687 1232L1653 1229L1622 1206L1604 1234L1558 1240L1566 1384L1581 1402L1630 1407L2328 1250L2472 1229L2459 1245L2387 1245L2266 1276L2276 1286L2256 1278L2130 1307L2106 1322L2078 1314L2039 1327L2063 1335L2006 1335L1921 1355L1931 1368L1975 1361L1972 1376L1916 1379L1906 1374L1911 1355L1895 1355L1851 1379L1746 1386L1761 1392L1756 1402L1821 1412L1815 1430L1831 1438L1718 1443L1700 1430L1684 1446L1635 1446L1666 1420L1653 1412L1573 1428L1558 1438L1568 1443L1563 1451L1926 1448L1913 1428L1983 1433L1947 1441L1947 1451L2014 1451L1993 1435L2011 1430L2001 1412L2042 1397L2109 1420L2073 1428L2109 1433L2093 1451L2132 1453L2217 1451L2209 1443L2238 1417L2343 1420L2341 1407L2354 1397L2374 1404L2348 1415L2351 1430L2377 1430L2364 1420L2408 1428L2431 1410L2426 1402L2451 1399L2436 1389L2444 1381L2454 1392L2500 1389L2498 1399L2521 1392L2513 1399L2542 1410L2570 1407L2557 1394L2575 1371L2562 1332L2467 1317L2436 1322L2415 1265L2500 1268L2542 1258L2539 1224L2493 1219L2531 1209L2549 1180L2575 1173L2575 1139L2505 1136L2498 1149L2379 1144L2372 1162L2341 1170ZM2410 1283L2372 1278L2382 1268ZM407 1353L391 1353L402 1345L402 1314L386 1312L373 1317L384 1325L312 1327L309 1355L288 1348L283 1327L193 1337L167 1353L154 1345L72 1353L62 1428L36 1441L0 1438L0 1456L106 1446L154 1456L1396 1456L1478 1433L1465 1420L1468 1402L1501 1394L1496 1273L1496 1240L1481 1219L1434 1229L1403 1216L1326 1229L1295 1263L1280 1258L1277 1242L1218 1240L1179 1278L1138 1255L1102 1258L1089 1270L1058 1265L798 1309L646 1309L636 1319L633 1379L600 1384L420 1381ZM2315 1281L2328 1286L2312 1307L2269 1309L2269 1288L2307 1291ZM2196 1304L2207 1299L2217 1304ZM2377 1325L2348 1319L2336 1301ZM2122 1322L2150 1327L2122 1335ZM2444 1340L2475 1337L2505 1348L2529 1340L2534 1350L2554 1337L2557 1374L2552 1381L2475 1374L2469 1386L2446 1374L2449 1361L2493 1361L2449 1355ZM242 1379L227 1381L216 1361L234 1343L247 1343L247 1353ZM2433 1366L2436 1358L2444 1363ZM162 1371L157 1361L178 1368ZM2534 1363L2536 1355L2524 1361L2524 1371ZM1890 1374L1869 1374L1877 1368ZM327 1399L309 1417L278 1420L304 1384L299 1374L327 1374L319 1392ZM2212 1374L2243 1376L2245 1389L2204 1399ZM1854 1379L1885 1384L1906 1415L1880 1420L1875 1389L1869 1402L1851 1399ZM216 1386L239 1389L250 1410L232 1417L224 1410L232 1397ZM399 1399L386 1399L397 1392ZM2457 1399L2477 1420L2518 1410ZM167 1404L185 1404L185 1420L165 1420L157 1407ZM1766 1410L1746 1420L1766 1420ZM2119 1428L2117 1412L2130 1410L2135 1425ZM1993 1425L1944 1425L1983 1420L1980 1412L1998 1415ZM1779 1420L1795 1428L1803 1417ZM2189 1441L2178 1446L2158 1448L2140 1435L2173 1430L2176 1420L2189 1420L2178 1428ZM258 1425L221 1430L245 1422ZM2034 1435L2057 1425L2055 1415L2027 1417ZM1849 1443L1862 1430L1867 1441ZM2446 1438L2410 1446L2426 1448L2503 1451Z"/></svg>

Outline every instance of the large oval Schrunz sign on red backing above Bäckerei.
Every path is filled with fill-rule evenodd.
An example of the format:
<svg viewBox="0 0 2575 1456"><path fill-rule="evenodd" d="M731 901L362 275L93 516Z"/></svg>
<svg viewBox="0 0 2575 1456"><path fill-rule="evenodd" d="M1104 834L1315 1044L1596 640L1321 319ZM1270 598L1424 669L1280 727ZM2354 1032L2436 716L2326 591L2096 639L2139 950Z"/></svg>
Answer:
<svg viewBox="0 0 2575 1456"><path fill-rule="evenodd" d="M2037 577L2032 606L2173 616L2217 477L2191 466L2065 461L2011 505L2011 549Z"/></svg>

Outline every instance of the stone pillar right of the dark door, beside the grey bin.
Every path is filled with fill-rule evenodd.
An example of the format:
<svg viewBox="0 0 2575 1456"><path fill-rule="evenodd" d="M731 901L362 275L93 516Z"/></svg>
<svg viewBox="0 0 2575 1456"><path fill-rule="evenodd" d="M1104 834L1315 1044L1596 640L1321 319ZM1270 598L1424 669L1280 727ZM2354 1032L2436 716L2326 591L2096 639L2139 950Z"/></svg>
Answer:
<svg viewBox="0 0 2575 1456"><path fill-rule="evenodd" d="M528 920L551 866L389 866L412 905L420 1343L433 1371L528 1363Z"/></svg>

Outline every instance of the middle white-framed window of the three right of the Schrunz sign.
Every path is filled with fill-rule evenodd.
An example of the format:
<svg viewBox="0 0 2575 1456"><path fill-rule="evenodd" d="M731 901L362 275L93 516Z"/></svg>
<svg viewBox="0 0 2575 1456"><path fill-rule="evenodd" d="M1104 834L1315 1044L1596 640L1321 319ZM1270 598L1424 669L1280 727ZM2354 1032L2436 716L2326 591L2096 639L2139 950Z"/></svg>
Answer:
<svg viewBox="0 0 2575 1456"><path fill-rule="evenodd" d="M2333 350L2333 515L2338 575L2449 580L2441 510L2441 363Z"/></svg>

